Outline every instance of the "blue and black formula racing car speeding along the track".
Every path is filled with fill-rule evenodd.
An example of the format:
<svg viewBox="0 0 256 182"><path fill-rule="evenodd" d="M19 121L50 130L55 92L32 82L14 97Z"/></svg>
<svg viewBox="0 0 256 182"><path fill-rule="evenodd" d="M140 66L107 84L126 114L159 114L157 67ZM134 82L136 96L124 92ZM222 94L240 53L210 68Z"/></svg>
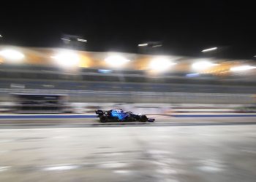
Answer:
<svg viewBox="0 0 256 182"><path fill-rule="evenodd" d="M122 109L113 109L109 111L95 111L100 122L154 122L155 119L148 118L146 115L133 114Z"/></svg>

